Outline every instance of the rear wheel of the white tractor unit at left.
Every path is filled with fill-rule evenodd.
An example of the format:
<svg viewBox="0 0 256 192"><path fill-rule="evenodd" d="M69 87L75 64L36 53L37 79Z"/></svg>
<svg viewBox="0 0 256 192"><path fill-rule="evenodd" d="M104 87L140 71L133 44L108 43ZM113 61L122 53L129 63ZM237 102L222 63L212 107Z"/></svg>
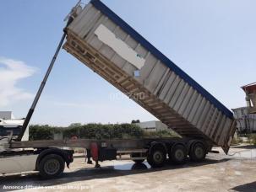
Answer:
<svg viewBox="0 0 256 192"><path fill-rule="evenodd" d="M57 154L49 154L41 159L39 173L44 179L52 179L60 176L65 168L63 157Z"/></svg>

